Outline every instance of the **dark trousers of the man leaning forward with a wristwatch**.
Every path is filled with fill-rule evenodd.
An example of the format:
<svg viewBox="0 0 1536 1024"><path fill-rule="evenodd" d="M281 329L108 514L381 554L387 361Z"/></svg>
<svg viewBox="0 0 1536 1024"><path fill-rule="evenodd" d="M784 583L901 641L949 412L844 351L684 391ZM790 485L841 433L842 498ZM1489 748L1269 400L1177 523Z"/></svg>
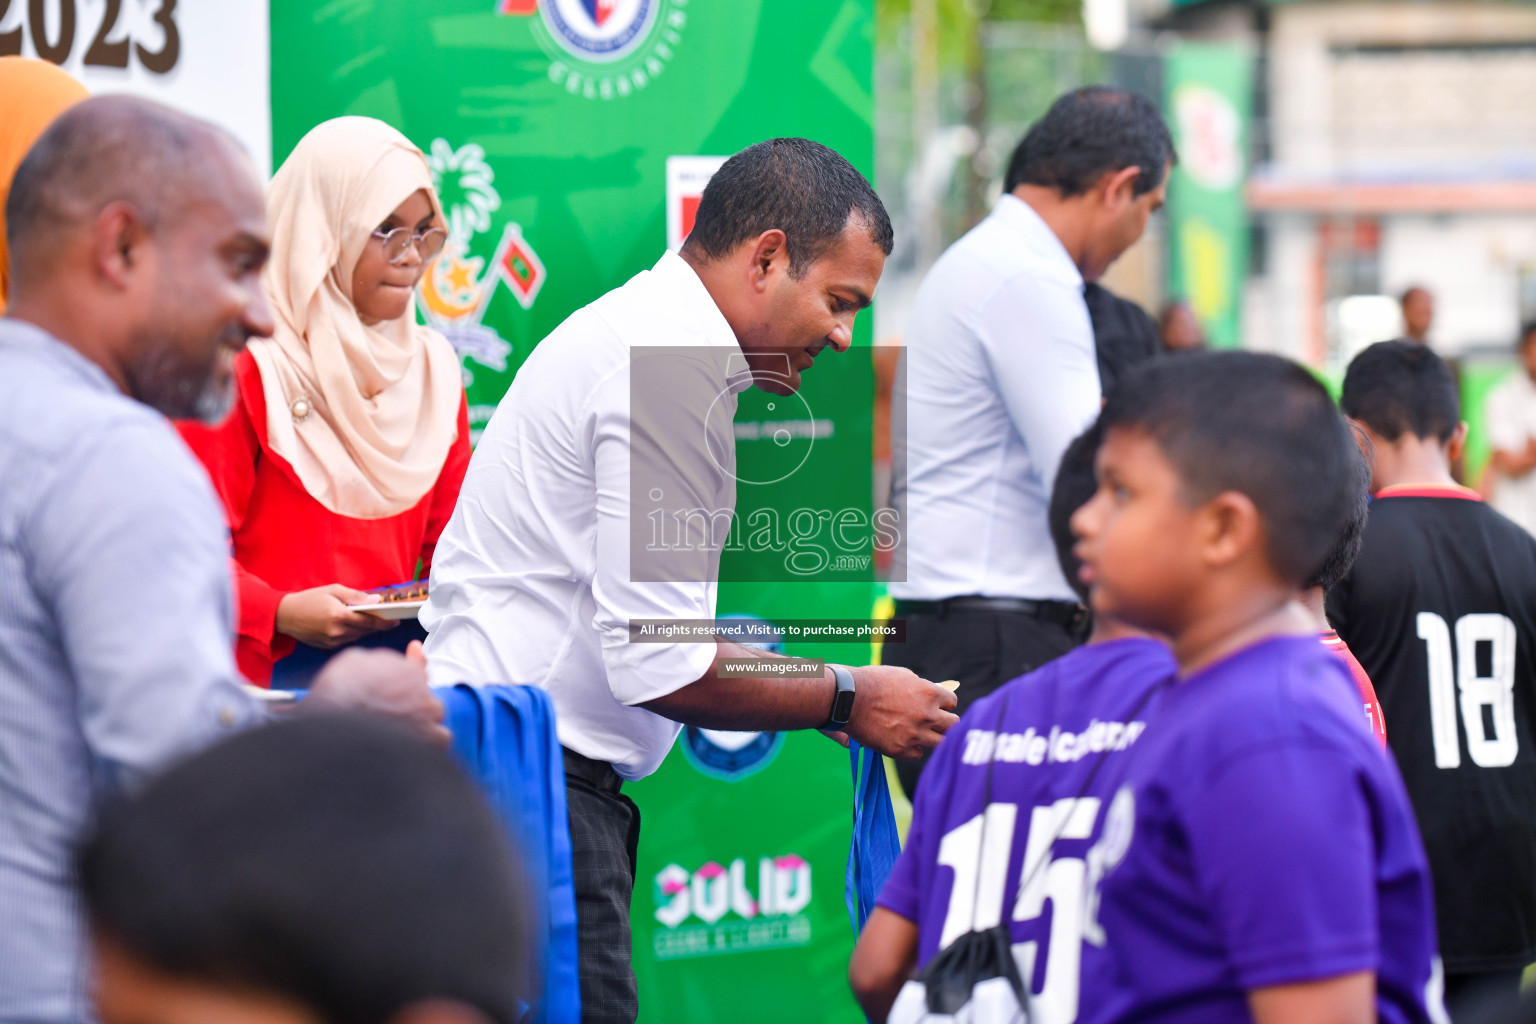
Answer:
<svg viewBox="0 0 1536 1024"><path fill-rule="evenodd" d="M611 769L610 769L611 771ZM641 846L641 809L611 781L565 774L576 887L576 953L582 1024L634 1024L641 1012L630 963L630 897Z"/></svg>

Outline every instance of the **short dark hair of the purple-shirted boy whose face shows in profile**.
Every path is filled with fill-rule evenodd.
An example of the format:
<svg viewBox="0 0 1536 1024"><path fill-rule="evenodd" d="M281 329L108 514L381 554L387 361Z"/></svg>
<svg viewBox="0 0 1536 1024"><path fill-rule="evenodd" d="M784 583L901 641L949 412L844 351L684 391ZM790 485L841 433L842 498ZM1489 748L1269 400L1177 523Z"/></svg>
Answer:
<svg viewBox="0 0 1536 1024"><path fill-rule="evenodd" d="M1100 424L1143 431L1200 504L1240 491L1264 519L1269 563L1301 586L1327 557L1358 496L1359 450L1304 368L1253 352L1198 352L1137 367Z"/></svg>

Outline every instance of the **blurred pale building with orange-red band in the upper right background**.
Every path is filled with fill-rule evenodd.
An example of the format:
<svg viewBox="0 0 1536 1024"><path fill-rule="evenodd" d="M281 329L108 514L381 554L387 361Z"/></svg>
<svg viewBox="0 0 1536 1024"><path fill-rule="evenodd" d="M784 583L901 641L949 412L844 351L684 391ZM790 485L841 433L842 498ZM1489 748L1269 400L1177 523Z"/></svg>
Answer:
<svg viewBox="0 0 1536 1024"><path fill-rule="evenodd" d="M1536 9L1312 0L1267 11L1252 342L1341 364L1361 338L1342 327L1339 302L1370 281L1387 296L1430 289L1445 355L1511 344L1530 307ZM1356 221L1376 241L1361 253L1370 273L1352 286L1338 236Z"/></svg>

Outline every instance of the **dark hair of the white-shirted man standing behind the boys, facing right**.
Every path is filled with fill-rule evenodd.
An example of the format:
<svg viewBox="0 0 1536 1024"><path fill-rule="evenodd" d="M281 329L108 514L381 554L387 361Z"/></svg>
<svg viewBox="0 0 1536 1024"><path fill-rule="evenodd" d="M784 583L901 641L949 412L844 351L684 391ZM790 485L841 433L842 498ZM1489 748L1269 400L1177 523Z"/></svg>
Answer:
<svg viewBox="0 0 1536 1024"><path fill-rule="evenodd" d="M1035 121L1008 161L1003 192L1020 184L1083 195L1106 173L1138 167L1132 195L1163 183L1177 160L1163 112L1144 95L1112 86L1074 89Z"/></svg>

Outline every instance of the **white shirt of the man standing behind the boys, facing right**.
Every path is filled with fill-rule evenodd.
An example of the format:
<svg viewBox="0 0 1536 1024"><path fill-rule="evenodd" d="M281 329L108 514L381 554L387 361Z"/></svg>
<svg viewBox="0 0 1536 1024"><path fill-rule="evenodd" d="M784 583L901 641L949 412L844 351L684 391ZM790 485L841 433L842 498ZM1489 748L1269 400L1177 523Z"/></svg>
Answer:
<svg viewBox="0 0 1536 1024"><path fill-rule="evenodd" d="M906 579L891 594L1075 602L1046 507L1061 453L1098 415L1098 365L1083 276L1028 203L1003 195L938 258L903 359Z"/></svg>

